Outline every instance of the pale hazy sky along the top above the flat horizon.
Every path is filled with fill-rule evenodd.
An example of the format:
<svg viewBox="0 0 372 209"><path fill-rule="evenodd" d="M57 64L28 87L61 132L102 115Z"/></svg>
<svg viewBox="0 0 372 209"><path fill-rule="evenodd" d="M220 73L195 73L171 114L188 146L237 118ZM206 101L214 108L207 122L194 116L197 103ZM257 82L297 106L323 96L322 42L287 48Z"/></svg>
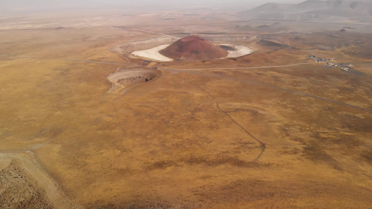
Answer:
<svg viewBox="0 0 372 209"><path fill-rule="evenodd" d="M0 7L50 7L50 6L144 6L144 5L168 5L168 6L218 6L223 4L249 4L260 5L267 2L292 3L301 0L0 0Z"/></svg>

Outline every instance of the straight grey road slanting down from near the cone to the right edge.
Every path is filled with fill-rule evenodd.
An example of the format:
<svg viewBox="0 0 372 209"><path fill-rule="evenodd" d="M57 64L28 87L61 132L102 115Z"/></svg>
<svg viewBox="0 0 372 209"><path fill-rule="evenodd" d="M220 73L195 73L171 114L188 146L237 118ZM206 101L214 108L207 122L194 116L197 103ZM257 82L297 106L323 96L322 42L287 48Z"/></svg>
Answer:
<svg viewBox="0 0 372 209"><path fill-rule="evenodd" d="M346 104L346 103L337 102L337 101L334 101L334 100L325 99L323 97L313 96L313 95L301 93L301 92L298 92L298 91L283 89L283 88L280 88L280 87L272 86L270 84L260 83L260 82L257 82L257 81L250 81L250 80L244 80L244 79L241 79L241 78L234 78L234 77L228 77L228 76L223 76L223 75L212 75L212 74L193 72L193 71L187 71L187 70L177 70L177 69L173 69L173 68L164 68L164 69L170 70L170 71L172 71L172 70L181 71L181 72L184 72L184 73L193 73L193 74L208 75L208 76L214 76L214 77L220 77L220 78L228 78L228 79L232 79L232 80L238 80L238 81L244 81L244 82L248 82L248 83L259 84L259 85L268 86L268 87L272 87L272 88L275 88L275 89L279 89L279 90L283 90L283 91L287 91L287 92L291 92L291 93L295 93L295 94L300 94L300 95L303 95L303 96L312 97L312 98L315 98L315 99L324 100L324 101L327 101L327 102L336 103L336 104L339 104L339 105L344 105L344 106L353 107L353 108L356 108L356 109L372 112L372 110L366 109L366 108L363 108L363 107L349 105L349 104ZM227 68L227 69L232 69L232 68Z"/></svg>

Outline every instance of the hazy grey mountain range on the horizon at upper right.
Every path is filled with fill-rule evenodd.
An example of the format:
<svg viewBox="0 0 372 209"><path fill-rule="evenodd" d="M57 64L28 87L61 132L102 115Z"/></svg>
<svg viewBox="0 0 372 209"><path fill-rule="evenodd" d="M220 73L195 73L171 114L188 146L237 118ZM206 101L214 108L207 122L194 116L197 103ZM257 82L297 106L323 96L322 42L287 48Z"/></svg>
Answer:
<svg viewBox="0 0 372 209"><path fill-rule="evenodd" d="M309 20L354 19L372 21L372 0L307 0L298 4L266 3L240 14L244 19Z"/></svg>

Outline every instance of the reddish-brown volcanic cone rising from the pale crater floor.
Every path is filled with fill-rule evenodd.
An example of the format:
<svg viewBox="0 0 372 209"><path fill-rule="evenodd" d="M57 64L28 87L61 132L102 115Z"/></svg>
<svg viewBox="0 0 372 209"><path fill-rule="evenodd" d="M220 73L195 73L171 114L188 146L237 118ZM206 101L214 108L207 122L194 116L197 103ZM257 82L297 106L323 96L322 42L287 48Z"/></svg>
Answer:
<svg viewBox="0 0 372 209"><path fill-rule="evenodd" d="M159 53L177 61L219 59L228 55L225 49L198 36L183 37Z"/></svg>

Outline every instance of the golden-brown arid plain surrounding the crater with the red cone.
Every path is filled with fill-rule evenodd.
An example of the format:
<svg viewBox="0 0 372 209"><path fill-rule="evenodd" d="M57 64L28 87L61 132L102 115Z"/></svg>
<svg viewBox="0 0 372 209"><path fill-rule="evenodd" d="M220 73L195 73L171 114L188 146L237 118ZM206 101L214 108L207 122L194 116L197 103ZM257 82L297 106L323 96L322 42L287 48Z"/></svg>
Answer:
<svg viewBox="0 0 372 209"><path fill-rule="evenodd" d="M0 208L371 208L371 25L58 14L0 20ZM254 52L130 54L186 35Z"/></svg>

